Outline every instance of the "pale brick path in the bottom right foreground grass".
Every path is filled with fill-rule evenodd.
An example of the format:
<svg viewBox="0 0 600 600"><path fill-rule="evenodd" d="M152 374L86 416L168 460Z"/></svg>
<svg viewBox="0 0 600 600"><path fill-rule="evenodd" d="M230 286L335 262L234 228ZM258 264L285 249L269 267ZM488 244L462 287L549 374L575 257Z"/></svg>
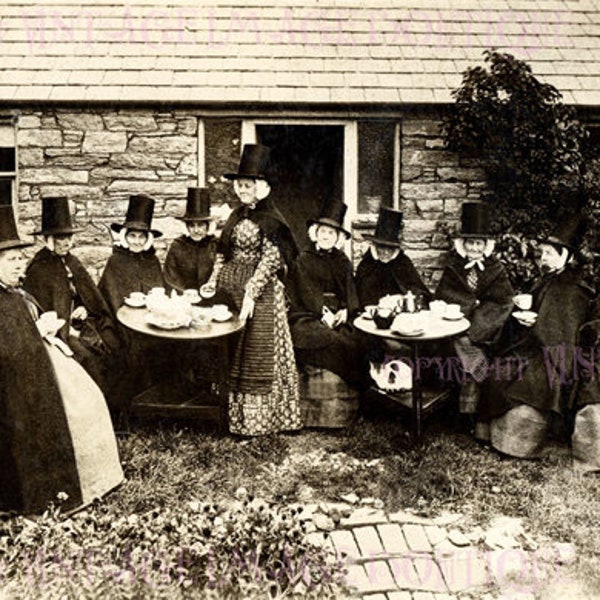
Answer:
<svg viewBox="0 0 600 600"><path fill-rule="evenodd" d="M569 544L537 543L520 519L498 517L487 530L469 530L460 514L423 518L339 504L305 509L319 525L313 540L347 564L347 582L364 600L458 600L473 593L533 600L557 567L575 558Z"/></svg>

